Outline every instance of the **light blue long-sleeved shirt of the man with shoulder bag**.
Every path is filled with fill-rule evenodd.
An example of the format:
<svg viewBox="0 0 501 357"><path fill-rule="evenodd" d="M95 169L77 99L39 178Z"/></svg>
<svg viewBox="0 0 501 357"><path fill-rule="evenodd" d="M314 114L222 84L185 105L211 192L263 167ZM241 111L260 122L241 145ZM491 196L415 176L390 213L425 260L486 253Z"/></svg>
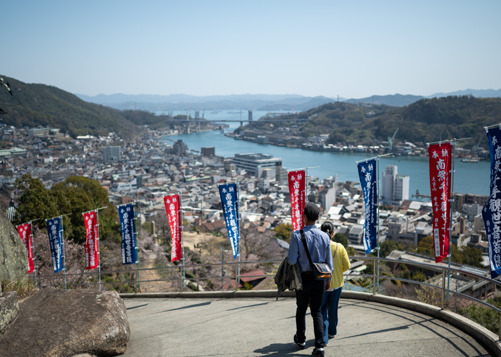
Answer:
<svg viewBox="0 0 501 357"><path fill-rule="evenodd" d="M323 232L316 225L306 225L303 228L305 232L306 243L312 256L314 263L326 263L333 270L331 243L329 234ZM301 232L295 231L292 234L291 244L289 246L289 264L294 265L299 263L301 272L311 270L308 256L306 255L305 247L301 241ZM328 279L327 281L330 281Z"/></svg>

